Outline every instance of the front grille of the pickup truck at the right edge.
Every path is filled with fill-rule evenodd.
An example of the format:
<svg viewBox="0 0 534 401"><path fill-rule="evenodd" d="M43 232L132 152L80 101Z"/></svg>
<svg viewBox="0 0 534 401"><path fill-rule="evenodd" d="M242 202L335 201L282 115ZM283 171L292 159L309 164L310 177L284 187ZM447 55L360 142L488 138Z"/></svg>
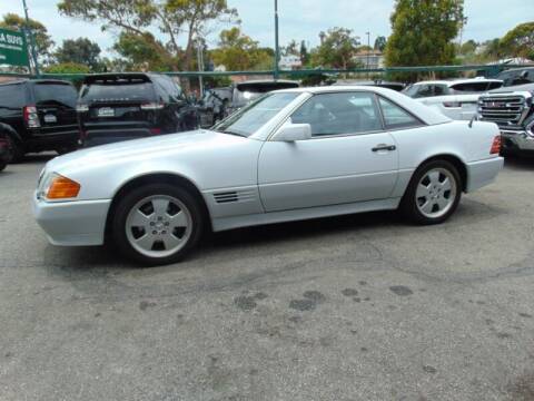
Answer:
<svg viewBox="0 0 534 401"><path fill-rule="evenodd" d="M483 96L478 101L478 113L484 121L493 121L502 127L518 126L525 105L526 99L522 95Z"/></svg>

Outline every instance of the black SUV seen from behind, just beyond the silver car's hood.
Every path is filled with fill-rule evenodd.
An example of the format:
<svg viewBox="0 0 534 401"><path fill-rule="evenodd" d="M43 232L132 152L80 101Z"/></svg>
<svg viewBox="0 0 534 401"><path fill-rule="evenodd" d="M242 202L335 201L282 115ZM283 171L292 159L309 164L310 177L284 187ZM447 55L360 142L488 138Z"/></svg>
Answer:
<svg viewBox="0 0 534 401"><path fill-rule="evenodd" d="M77 111L86 147L197 128L195 106L159 74L87 76Z"/></svg>

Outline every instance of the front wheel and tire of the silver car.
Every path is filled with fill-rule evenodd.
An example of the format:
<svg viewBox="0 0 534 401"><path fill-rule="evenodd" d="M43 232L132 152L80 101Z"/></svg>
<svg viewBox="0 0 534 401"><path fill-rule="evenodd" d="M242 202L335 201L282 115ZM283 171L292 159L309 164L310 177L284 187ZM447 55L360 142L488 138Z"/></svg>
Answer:
<svg viewBox="0 0 534 401"><path fill-rule="evenodd" d="M115 243L125 256L156 266L184 260L202 235L205 216L188 190L150 184L119 202L111 224Z"/></svg>

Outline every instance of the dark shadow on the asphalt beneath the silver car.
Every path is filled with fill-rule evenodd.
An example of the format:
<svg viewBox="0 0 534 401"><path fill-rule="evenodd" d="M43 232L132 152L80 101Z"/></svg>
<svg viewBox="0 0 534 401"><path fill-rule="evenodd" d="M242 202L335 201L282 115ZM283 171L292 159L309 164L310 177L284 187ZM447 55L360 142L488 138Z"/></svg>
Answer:
<svg viewBox="0 0 534 401"><path fill-rule="evenodd" d="M196 266L218 257L234 257L236 251L247 248L247 254L270 252L278 245L291 241L317 241L332 238L344 233L364 231L367 227L380 228L392 225L406 225L395 212L370 212L355 215L324 217L317 219L279 223L271 225L236 228L220 233L208 233L197 248L187 256L185 264ZM316 238L316 239L314 239ZM307 246L307 245L306 245ZM310 246L314 246L313 244ZM126 260L112 244L105 246L56 247L49 245L44 251L44 265L55 274L73 278L99 276L110 271L142 268ZM226 255L226 256L225 256ZM176 268L181 264L170 265ZM165 267L165 266L162 266ZM167 266L169 267L169 266ZM154 267L152 267L154 268Z"/></svg>

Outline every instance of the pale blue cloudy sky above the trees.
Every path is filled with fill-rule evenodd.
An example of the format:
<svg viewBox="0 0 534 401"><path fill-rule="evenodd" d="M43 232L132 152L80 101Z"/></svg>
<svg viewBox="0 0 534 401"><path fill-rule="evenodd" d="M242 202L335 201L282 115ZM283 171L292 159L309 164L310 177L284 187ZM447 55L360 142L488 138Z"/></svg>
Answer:
<svg viewBox="0 0 534 401"><path fill-rule="evenodd" d="M81 36L97 41L106 51L113 42L112 33L101 32L98 25L60 16L55 0L27 2L30 17L43 22L57 43ZM0 13L22 14L21 3L21 0L0 0ZM237 8L247 35L263 46L274 46L274 0L228 0L228 3ZM353 29L364 41L365 32L370 31L372 42L376 36L390 32L393 0L278 0L278 3L281 45L297 39L315 46L319 31L336 26ZM464 38L482 41L501 37L516 25L534 20L534 0L465 0L465 14L468 22ZM217 32L224 28L212 27L214 33L208 38L211 47L217 45Z"/></svg>

